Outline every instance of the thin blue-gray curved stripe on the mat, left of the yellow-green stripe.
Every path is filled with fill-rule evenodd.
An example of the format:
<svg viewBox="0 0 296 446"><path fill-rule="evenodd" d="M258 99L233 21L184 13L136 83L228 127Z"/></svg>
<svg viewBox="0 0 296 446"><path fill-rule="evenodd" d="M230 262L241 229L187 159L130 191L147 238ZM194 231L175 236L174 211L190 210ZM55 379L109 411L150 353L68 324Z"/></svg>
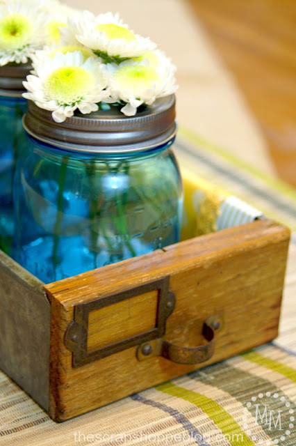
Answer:
<svg viewBox="0 0 296 446"><path fill-rule="evenodd" d="M190 438L195 440L195 443L197 443L197 445L211 446L209 445L209 443L206 443L206 440L204 440L204 436L202 435L202 433L200 433L199 430L188 420L188 418L186 418L186 416L178 410L167 406L166 404L153 401L152 399L141 397L139 394L132 395L131 399L139 401L140 403L147 404L147 406L153 406L161 409L165 413L169 413L178 423L182 424L183 428L186 429L186 431L188 431L188 433L190 434Z"/></svg>

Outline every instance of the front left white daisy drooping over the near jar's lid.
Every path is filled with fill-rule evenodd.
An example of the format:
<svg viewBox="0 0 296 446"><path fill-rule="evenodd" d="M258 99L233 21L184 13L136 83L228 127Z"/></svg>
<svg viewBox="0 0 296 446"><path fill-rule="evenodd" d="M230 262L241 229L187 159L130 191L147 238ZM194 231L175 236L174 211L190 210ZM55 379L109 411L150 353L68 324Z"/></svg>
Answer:
<svg viewBox="0 0 296 446"><path fill-rule="evenodd" d="M28 75L24 82L38 107L50 110L54 121L61 123L79 109L82 114L96 112L97 102L109 102L107 78L101 64L92 57L86 61L80 51L57 52L35 66L36 75Z"/></svg>

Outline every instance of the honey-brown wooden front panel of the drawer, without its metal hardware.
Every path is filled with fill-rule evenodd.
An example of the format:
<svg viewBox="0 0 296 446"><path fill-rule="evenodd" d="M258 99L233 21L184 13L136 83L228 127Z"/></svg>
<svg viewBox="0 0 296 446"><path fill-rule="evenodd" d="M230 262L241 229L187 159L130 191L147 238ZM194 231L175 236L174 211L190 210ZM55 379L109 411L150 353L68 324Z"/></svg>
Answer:
<svg viewBox="0 0 296 446"><path fill-rule="evenodd" d="M45 286L52 309L51 417L67 420L274 339L288 239L289 231L283 226L256 221ZM167 319L167 341L198 346L203 343L206 318L222 314L224 328L218 332L211 360L194 366L174 364L162 357L138 362L134 346L72 367L65 332L76 305L167 276L176 295L176 307ZM149 312L147 304L143 305L143 327L149 327L146 319L151 320L155 309ZM119 328L122 330L122 325ZM115 324L114 333L117 331ZM98 327L98 343L99 338Z"/></svg>

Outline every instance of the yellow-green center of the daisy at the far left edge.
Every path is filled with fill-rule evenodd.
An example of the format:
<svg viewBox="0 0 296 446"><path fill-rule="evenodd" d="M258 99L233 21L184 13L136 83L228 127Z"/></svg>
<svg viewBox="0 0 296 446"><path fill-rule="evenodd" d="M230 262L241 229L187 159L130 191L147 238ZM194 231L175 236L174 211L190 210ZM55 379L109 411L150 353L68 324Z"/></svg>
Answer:
<svg viewBox="0 0 296 446"><path fill-rule="evenodd" d="M6 15L0 20L0 48L22 49L28 45L31 32L31 23L25 15Z"/></svg>

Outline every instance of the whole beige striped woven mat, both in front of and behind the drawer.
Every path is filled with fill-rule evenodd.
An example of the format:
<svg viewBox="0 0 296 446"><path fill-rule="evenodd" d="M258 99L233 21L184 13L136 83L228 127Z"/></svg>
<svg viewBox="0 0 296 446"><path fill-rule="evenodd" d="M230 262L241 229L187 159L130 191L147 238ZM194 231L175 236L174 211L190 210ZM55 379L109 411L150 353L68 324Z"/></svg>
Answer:
<svg viewBox="0 0 296 446"><path fill-rule="evenodd" d="M182 1L67 3L96 12L120 10L135 31L150 35L178 66L179 121L219 141L241 160L272 172L264 141L238 89L213 54L202 28L190 21L188 10L184 12ZM176 153L184 169L228 190L296 233L293 191L250 172L233 157L224 157L220 148L183 134L186 138L178 138ZM0 445L295 445L295 240L293 236L281 335L274 343L63 424L50 420L0 372ZM120 371L113 373L115 377Z"/></svg>

